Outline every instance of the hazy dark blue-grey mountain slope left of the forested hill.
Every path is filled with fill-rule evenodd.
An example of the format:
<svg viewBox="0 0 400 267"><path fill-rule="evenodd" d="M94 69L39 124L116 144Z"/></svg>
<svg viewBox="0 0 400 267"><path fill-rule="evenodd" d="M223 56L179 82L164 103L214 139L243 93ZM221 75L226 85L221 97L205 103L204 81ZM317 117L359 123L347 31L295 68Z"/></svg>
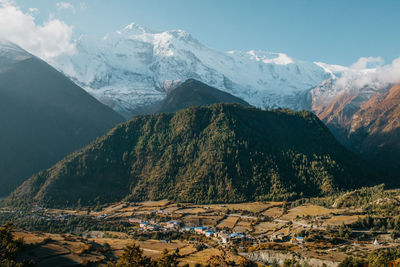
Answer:
<svg viewBox="0 0 400 267"><path fill-rule="evenodd" d="M0 40L0 196L123 120L44 61Z"/></svg>

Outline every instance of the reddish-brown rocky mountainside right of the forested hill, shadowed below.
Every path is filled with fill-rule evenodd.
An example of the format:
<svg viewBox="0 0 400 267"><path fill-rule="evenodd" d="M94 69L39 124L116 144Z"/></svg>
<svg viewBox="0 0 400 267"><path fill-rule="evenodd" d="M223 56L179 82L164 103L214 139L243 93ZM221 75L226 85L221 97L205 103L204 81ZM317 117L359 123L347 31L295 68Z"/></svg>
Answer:
<svg viewBox="0 0 400 267"><path fill-rule="evenodd" d="M352 150L398 177L400 164L400 85L342 93L317 110L336 137ZM397 173L397 174L396 174Z"/></svg>

